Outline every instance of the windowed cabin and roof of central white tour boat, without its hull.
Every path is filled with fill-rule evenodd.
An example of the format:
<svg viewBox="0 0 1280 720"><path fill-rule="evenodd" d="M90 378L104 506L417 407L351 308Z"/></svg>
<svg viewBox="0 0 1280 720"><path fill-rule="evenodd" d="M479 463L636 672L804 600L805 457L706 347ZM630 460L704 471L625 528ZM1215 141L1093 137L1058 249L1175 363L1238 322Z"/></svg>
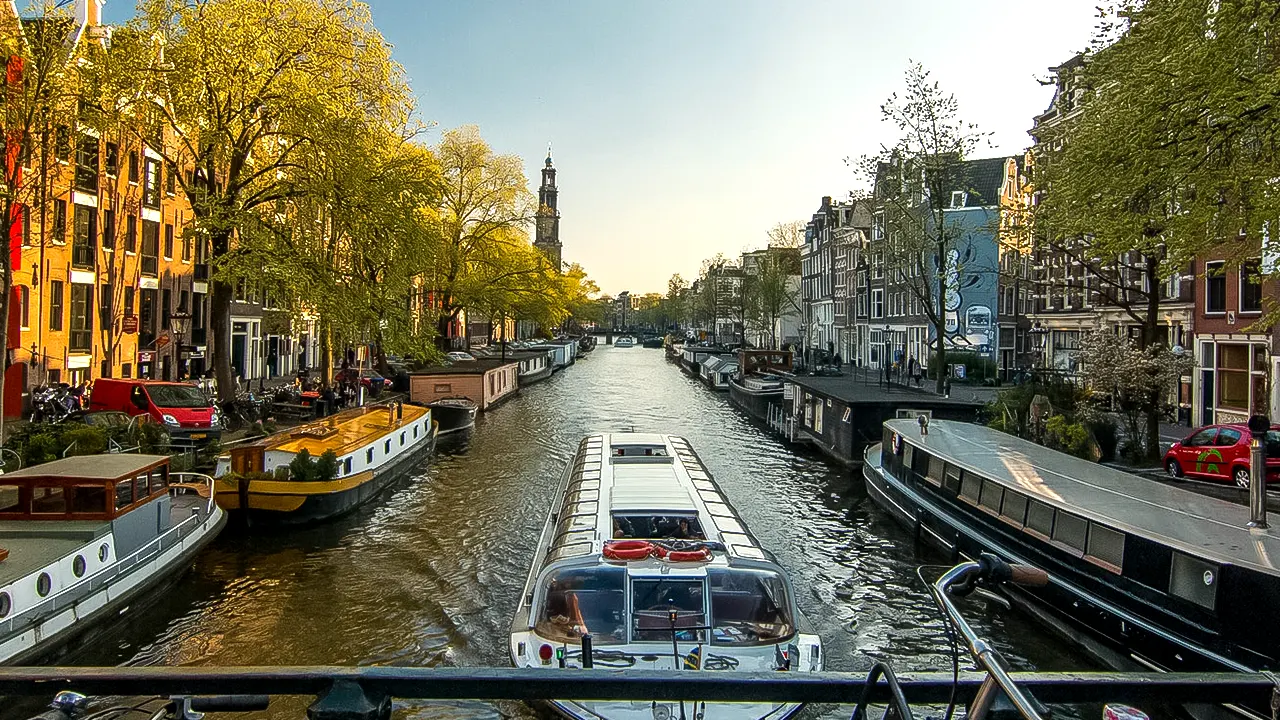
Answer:
<svg viewBox="0 0 1280 720"><path fill-rule="evenodd" d="M521 638L657 643L668 669L673 639L768 648L762 669L796 641L790 582L684 438L590 436L561 491L512 626ZM536 665L525 639L517 662Z"/></svg>

